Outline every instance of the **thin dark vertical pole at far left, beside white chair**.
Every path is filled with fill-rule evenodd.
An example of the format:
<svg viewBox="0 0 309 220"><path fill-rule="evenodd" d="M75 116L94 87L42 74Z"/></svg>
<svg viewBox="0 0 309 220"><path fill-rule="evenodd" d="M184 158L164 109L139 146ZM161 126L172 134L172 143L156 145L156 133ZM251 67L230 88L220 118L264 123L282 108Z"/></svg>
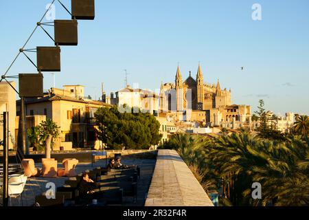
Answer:
<svg viewBox="0 0 309 220"><path fill-rule="evenodd" d="M8 112L3 112L3 206L8 206Z"/></svg>

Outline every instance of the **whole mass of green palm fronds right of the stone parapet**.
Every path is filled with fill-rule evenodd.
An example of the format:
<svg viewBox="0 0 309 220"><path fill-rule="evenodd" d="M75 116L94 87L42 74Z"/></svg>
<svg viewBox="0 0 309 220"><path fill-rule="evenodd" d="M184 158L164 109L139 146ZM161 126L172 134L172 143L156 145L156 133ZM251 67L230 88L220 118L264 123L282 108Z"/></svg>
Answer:
<svg viewBox="0 0 309 220"><path fill-rule="evenodd" d="M244 132L211 140L176 134L165 146L198 168L192 172L206 191L220 193L222 206L308 206L308 138L295 135L282 142ZM254 182L262 185L262 199L251 197Z"/></svg>

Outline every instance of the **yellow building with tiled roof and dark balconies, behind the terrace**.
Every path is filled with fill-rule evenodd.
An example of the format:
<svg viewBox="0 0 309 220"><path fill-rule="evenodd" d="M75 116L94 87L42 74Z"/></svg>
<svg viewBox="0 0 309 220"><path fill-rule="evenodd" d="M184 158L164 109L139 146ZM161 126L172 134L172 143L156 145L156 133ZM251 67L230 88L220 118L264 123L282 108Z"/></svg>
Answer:
<svg viewBox="0 0 309 220"><path fill-rule="evenodd" d="M72 86L70 86L72 87ZM82 86L73 86L74 88ZM63 91L65 90L65 91ZM43 98L27 98L25 100L26 115L46 115L60 126L60 136L54 140L54 150L71 150L71 148L98 147L99 141L95 133L94 113L100 107L111 105L89 100L83 97L83 91L76 96L66 94L67 89L54 89ZM66 94L67 96L63 96ZM76 98L73 98L73 97ZM17 111L20 102L17 102ZM37 126L38 124L34 124Z"/></svg>

